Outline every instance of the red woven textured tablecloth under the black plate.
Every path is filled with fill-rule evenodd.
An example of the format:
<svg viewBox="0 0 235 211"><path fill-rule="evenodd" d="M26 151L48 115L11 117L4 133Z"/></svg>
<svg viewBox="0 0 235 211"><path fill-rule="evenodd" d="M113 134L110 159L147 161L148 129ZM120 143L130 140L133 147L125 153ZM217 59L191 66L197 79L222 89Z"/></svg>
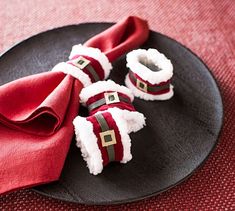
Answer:
<svg viewBox="0 0 235 211"><path fill-rule="evenodd" d="M234 0L0 0L0 53L41 31L81 22L116 22L128 15L193 50L212 70L224 101L219 144L191 178L156 197L115 206L84 206L31 190L0 196L0 210L235 210ZM1 70L0 70L1 71Z"/></svg>

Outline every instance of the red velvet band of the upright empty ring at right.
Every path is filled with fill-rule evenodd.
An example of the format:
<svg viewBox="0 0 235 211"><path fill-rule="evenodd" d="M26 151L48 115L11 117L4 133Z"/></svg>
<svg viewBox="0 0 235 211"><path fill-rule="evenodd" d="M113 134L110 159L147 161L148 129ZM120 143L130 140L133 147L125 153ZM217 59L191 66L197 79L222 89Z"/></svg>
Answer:
<svg viewBox="0 0 235 211"><path fill-rule="evenodd" d="M163 82L161 82L161 83L159 83L159 84L151 84L149 81L146 81L146 80L142 79L139 75L137 75L136 73L134 73L134 72L132 72L132 71L130 70L129 75L128 75L128 76L129 76L129 79L130 79L131 83L132 83L137 89L139 89L139 88L138 88L137 85L136 85L136 81L133 80L133 78L130 76L130 73L133 74L134 77L135 77L136 79L138 79L139 81L141 81L141 82L147 84L148 87L159 87L159 88L160 88L161 86L165 86L165 85L168 85L168 84L170 85L170 80L163 81ZM139 90L142 91L141 89L139 89ZM157 92L147 91L146 93L147 93L147 94L151 94L151 95L161 95L161 94L165 94L165 93L167 93L167 92L169 92L169 91L170 91L170 86L169 86L169 88L166 88L166 89L163 89L163 90L160 90L160 91L157 91Z"/></svg>

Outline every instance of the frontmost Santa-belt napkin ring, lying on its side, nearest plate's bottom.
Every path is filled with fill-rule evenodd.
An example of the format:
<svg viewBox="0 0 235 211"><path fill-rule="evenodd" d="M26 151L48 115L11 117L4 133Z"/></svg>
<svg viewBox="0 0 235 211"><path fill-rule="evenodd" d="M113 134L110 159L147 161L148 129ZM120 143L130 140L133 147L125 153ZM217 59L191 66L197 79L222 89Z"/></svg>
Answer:
<svg viewBox="0 0 235 211"><path fill-rule="evenodd" d="M129 133L140 130L145 118L136 111L109 108L86 118L77 116L73 124L89 172L97 175L110 162L132 159Z"/></svg>

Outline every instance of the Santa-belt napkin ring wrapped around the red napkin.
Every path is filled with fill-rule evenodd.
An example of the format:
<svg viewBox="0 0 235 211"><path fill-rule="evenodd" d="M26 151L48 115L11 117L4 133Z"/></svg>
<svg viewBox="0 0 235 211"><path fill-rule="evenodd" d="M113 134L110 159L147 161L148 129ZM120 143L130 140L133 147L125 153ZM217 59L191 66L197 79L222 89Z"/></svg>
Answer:
<svg viewBox="0 0 235 211"><path fill-rule="evenodd" d="M52 71L61 71L80 80L84 87L108 78L112 64L98 48L74 45L69 61L57 64Z"/></svg>

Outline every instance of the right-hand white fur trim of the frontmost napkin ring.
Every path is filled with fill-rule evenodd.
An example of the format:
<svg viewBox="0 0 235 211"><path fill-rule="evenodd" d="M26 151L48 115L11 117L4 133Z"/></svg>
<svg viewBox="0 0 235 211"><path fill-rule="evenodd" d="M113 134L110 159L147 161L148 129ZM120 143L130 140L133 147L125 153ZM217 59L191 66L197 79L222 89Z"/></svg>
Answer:
<svg viewBox="0 0 235 211"><path fill-rule="evenodd" d="M123 146L123 158L121 163L127 163L132 159L129 133L136 132L143 128L145 125L145 117L139 112L121 110L119 108L109 108L107 112L111 113L121 135Z"/></svg>

